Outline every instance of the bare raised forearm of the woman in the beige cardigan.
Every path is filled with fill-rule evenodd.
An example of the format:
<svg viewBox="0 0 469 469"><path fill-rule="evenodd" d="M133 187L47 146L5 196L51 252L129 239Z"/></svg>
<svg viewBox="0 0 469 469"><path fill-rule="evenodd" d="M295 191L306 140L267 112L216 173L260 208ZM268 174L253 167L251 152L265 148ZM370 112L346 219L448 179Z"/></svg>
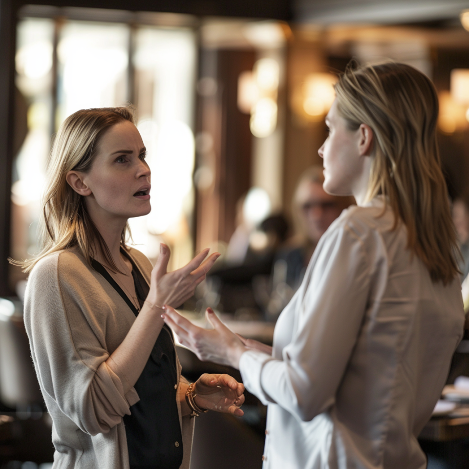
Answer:
<svg viewBox="0 0 469 469"><path fill-rule="evenodd" d="M133 388L150 357L164 324L162 312L145 302L122 343L106 360L118 376L125 378L122 379L124 394Z"/></svg>

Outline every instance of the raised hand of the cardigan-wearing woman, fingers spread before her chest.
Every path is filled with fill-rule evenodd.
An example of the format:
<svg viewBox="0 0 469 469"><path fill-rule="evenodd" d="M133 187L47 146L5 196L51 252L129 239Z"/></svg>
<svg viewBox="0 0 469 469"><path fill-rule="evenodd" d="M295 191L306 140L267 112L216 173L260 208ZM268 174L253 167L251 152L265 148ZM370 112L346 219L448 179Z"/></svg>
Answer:
<svg viewBox="0 0 469 469"><path fill-rule="evenodd" d="M209 249L204 249L184 267L167 272L170 251L165 244L161 243L160 255L152 270L150 292L146 301L156 305L166 304L174 307L182 305L194 294L197 285L205 279L207 272L220 257L220 254L216 252L202 263L208 251Z"/></svg>

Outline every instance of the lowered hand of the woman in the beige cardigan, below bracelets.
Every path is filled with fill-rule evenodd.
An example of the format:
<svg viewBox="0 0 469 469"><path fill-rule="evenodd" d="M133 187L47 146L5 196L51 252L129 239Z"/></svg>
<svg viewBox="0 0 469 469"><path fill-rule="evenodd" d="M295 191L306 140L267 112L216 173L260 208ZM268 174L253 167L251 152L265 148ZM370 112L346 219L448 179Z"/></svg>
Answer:
<svg viewBox="0 0 469 469"><path fill-rule="evenodd" d="M226 412L241 417L244 385L227 374L204 373L195 383L195 402L198 407Z"/></svg>

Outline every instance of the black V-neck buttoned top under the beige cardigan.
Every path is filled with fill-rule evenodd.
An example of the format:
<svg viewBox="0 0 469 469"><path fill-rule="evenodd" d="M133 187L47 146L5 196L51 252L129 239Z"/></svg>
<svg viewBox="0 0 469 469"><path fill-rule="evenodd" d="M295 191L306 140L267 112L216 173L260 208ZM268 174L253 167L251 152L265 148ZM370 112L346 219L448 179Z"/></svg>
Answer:
<svg viewBox="0 0 469 469"><path fill-rule="evenodd" d="M135 292L142 307L150 287L130 256L123 249L121 252L132 263ZM109 272L96 260L92 261L92 266L137 316L135 305ZM182 464L182 434L176 404L177 380L174 338L165 324L134 386L140 400L130 408L131 415L123 417L131 469L178 469Z"/></svg>

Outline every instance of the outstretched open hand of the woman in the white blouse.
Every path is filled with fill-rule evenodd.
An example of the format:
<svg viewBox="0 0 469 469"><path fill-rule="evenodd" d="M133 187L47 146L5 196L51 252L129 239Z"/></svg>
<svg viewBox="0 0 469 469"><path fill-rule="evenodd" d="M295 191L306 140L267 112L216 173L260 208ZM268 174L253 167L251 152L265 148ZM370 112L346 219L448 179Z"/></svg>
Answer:
<svg viewBox="0 0 469 469"><path fill-rule="evenodd" d="M170 306L165 306L164 309L164 322L173 329L179 342L192 350L200 360L239 368L241 355L248 349L211 308L207 308L205 314L214 326L213 330L195 326Z"/></svg>

